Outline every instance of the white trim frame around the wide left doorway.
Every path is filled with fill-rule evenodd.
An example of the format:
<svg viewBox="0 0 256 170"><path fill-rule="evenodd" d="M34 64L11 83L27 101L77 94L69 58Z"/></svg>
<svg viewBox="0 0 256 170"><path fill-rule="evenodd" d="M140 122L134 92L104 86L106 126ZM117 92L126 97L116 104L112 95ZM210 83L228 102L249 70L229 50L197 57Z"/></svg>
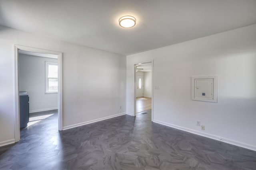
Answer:
<svg viewBox="0 0 256 170"><path fill-rule="evenodd" d="M58 130L63 130L62 125L62 53L58 51L50 51L38 49L34 47L26 47L22 45L14 45L14 85L15 85L15 115L14 115L14 138L15 142L20 141L20 98L19 98L19 50L32 51L36 53L44 53L58 56Z"/></svg>

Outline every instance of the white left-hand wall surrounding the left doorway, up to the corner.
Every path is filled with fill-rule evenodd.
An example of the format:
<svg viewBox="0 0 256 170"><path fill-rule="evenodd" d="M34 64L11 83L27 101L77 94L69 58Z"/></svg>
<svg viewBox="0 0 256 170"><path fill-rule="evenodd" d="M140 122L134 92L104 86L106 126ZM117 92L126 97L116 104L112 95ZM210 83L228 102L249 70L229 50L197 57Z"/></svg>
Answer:
<svg viewBox="0 0 256 170"><path fill-rule="evenodd" d="M0 145L14 142L14 44L63 53L64 127L125 113L126 57L0 26Z"/></svg>

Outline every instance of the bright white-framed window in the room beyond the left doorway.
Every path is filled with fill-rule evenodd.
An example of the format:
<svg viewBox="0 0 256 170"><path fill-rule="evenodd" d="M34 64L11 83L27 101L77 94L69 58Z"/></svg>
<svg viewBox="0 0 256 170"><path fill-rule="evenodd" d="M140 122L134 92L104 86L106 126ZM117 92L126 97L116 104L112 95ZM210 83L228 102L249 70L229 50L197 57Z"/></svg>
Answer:
<svg viewBox="0 0 256 170"><path fill-rule="evenodd" d="M58 64L45 62L45 92L58 92Z"/></svg>

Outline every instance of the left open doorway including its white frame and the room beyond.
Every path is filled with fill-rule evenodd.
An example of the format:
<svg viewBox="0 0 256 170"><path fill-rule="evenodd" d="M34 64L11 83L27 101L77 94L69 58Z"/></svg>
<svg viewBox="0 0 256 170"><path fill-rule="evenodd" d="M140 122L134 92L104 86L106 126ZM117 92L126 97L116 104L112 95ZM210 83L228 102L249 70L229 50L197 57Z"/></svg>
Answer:
<svg viewBox="0 0 256 170"><path fill-rule="evenodd" d="M31 128L62 130L61 53L19 45L15 52L15 141Z"/></svg>

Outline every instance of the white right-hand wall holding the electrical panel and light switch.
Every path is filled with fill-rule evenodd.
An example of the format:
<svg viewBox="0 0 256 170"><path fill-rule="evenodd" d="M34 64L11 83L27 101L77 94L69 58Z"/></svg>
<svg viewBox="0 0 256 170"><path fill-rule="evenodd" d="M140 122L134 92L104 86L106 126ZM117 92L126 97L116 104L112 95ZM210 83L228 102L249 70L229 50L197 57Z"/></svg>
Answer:
<svg viewBox="0 0 256 170"><path fill-rule="evenodd" d="M154 121L256 150L256 25L128 56L127 113L134 64L154 59ZM191 76L218 76L218 103L191 100ZM200 120L205 131L196 126Z"/></svg>

